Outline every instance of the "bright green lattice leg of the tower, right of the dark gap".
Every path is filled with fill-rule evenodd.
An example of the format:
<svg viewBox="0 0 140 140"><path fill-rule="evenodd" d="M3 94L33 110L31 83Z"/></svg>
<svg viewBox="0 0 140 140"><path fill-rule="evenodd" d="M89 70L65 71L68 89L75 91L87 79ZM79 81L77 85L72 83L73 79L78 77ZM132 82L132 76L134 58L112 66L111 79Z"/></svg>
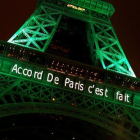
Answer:
<svg viewBox="0 0 140 140"><path fill-rule="evenodd" d="M88 28L87 33L93 64L98 66L101 63L106 70L135 77L111 23L103 24L91 21Z"/></svg>

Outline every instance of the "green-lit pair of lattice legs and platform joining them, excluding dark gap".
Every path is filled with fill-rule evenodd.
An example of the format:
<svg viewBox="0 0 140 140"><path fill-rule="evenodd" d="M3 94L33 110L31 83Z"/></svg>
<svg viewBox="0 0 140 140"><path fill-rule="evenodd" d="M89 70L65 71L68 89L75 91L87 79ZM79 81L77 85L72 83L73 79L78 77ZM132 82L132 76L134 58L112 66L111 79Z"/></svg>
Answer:
<svg viewBox="0 0 140 140"><path fill-rule="evenodd" d="M73 18L79 18L87 22L87 38L94 65L98 66L100 60L103 69L136 77L111 25L109 19L109 13L113 11L111 4L97 0L78 0L77 3L73 0L62 1L85 8L86 11L80 12L68 8L68 3L58 4L55 0L42 1L34 14L8 42L43 52L46 51L64 11L65 14L70 14ZM96 4L95 7L94 4Z"/></svg>

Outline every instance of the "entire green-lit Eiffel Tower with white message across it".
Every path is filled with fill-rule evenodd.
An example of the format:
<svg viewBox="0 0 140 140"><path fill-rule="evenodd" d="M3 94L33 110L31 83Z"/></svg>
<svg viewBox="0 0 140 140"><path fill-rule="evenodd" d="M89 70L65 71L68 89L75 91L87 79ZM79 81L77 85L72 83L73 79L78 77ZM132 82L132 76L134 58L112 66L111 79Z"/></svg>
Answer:
<svg viewBox="0 0 140 140"><path fill-rule="evenodd" d="M0 42L1 120L54 114L75 118L69 127L82 133L72 139L139 140L140 79L111 24L114 11L102 0L38 0L23 26Z"/></svg>

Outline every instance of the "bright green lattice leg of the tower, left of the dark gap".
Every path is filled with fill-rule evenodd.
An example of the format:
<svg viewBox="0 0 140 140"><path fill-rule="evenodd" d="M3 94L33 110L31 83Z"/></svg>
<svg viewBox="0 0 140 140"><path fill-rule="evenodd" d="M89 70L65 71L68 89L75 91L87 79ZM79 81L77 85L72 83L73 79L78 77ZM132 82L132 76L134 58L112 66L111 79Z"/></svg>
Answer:
<svg viewBox="0 0 140 140"><path fill-rule="evenodd" d="M40 6L8 42L40 51L50 43L62 12Z"/></svg>

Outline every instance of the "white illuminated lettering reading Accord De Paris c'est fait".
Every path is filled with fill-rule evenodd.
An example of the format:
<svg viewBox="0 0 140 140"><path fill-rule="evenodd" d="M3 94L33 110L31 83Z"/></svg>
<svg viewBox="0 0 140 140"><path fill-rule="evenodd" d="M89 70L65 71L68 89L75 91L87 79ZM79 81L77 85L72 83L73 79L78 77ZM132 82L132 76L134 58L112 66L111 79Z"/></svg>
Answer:
<svg viewBox="0 0 140 140"><path fill-rule="evenodd" d="M25 78L32 78L35 81L42 81L44 83L63 87L68 90L75 90L77 92L91 94L99 98L131 104L132 94L125 93L121 90L116 90L113 92L115 94L112 95L111 93L114 90L113 88L106 88L102 84L83 80L78 77L72 77L49 70L32 70L30 68L23 68L18 64L15 64L12 67L11 72L19 76L24 76Z"/></svg>

